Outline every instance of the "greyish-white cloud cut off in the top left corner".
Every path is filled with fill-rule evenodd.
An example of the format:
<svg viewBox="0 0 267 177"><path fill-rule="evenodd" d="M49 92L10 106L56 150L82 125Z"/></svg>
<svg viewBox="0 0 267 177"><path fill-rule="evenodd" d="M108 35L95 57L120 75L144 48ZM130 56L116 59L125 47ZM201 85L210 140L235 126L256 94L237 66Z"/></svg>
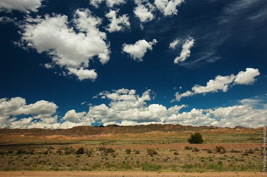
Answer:
<svg viewBox="0 0 267 177"><path fill-rule="evenodd" d="M43 0L0 0L0 11L37 12Z"/></svg>

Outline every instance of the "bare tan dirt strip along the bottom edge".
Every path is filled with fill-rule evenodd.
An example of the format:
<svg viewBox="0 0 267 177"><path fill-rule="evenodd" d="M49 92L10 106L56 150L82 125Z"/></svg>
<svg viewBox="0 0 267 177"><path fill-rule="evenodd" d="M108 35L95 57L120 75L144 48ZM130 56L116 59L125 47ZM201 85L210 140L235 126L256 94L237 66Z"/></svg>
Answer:
<svg viewBox="0 0 267 177"><path fill-rule="evenodd" d="M0 177L266 177L256 172L77 172L77 171L10 171L0 172Z"/></svg>

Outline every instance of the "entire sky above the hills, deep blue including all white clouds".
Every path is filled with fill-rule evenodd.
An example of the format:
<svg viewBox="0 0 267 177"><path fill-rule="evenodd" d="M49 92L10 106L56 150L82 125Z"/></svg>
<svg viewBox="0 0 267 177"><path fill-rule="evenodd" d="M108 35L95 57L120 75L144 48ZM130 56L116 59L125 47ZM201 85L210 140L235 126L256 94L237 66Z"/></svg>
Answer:
<svg viewBox="0 0 267 177"><path fill-rule="evenodd" d="M0 2L1 128L267 116L265 0L20 3Z"/></svg>

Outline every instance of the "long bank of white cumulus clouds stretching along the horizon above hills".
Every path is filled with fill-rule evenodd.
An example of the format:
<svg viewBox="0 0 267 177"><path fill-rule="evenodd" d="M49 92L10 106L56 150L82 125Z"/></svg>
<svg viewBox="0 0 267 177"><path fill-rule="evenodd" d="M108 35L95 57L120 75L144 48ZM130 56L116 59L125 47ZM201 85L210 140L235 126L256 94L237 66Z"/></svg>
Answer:
<svg viewBox="0 0 267 177"><path fill-rule="evenodd" d="M147 125L181 124L191 126L219 127L260 127L267 110L263 105L256 108L254 101L243 100L245 105L217 107L213 109L192 108L181 111L187 105L174 105L169 108L152 103L153 91L150 89L137 94L134 89L121 88L100 92L96 97L108 99L110 103L91 105L88 112L67 111L63 118L56 113L57 105L52 102L38 101L26 104L25 99L0 99L0 128L46 128L67 129L75 126L88 126L98 122L103 125ZM251 104L252 103L252 104ZM16 118L16 116L24 116Z"/></svg>

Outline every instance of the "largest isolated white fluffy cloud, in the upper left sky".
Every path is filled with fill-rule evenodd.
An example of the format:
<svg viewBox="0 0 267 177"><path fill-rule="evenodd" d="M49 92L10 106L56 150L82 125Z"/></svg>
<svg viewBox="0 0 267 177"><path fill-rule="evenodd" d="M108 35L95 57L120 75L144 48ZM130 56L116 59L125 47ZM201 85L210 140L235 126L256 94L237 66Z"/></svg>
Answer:
<svg viewBox="0 0 267 177"><path fill-rule="evenodd" d="M109 44L106 34L98 29L101 19L91 14L88 9L78 9L71 21L66 15L45 15L36 19L28 18L21 25L21 45L36 49L38 53L46 52L54 65L60 66L68 74L76 75L80 80L96 79L95 70L88 70L89 60L97 56L102 64L109 60Z"/></svg>

